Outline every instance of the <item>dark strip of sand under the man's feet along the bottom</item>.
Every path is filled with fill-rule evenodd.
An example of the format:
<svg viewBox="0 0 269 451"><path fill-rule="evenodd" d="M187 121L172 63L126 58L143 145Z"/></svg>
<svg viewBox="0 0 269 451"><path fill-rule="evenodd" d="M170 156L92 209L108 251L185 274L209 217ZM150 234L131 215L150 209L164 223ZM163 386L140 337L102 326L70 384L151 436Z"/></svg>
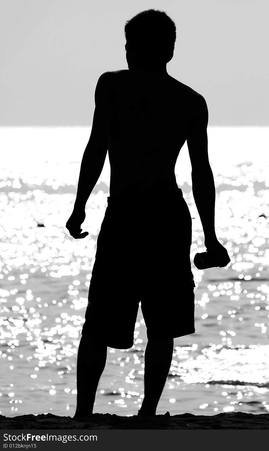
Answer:
<svg viewBox="0 0 269 451"><path fill-rule="evenodd" d="M223 412L213 416L182 414L151 417L93 414L77 420L53 414L13 418L0 415L0 429L269 429L269 414Z"/></svg>

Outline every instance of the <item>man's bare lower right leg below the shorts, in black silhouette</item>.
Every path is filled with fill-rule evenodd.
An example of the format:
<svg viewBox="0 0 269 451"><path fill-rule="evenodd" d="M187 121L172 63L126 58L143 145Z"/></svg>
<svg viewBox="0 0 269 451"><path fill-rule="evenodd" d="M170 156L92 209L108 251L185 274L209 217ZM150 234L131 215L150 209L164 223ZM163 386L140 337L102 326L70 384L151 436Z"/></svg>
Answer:
<svg viewBox="0 0 269 451"><path fill-rule="evenodd" d="M145 350L144 399L140 415L155 415L173 357L173 338L148 340Z"/></svg>

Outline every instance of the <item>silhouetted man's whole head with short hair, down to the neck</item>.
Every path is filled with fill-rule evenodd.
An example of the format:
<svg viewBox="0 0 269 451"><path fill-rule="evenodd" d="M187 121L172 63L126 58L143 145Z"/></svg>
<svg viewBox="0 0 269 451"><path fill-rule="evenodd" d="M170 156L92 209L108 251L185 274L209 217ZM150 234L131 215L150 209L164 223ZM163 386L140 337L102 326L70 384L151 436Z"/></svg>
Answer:
<svg viewBox="0 0 269 451"><path fill-rule="evenodd" d="M142 11L126 22L124 35L129 68L166 64L173 58L176 26L164 11Z"/></svg>

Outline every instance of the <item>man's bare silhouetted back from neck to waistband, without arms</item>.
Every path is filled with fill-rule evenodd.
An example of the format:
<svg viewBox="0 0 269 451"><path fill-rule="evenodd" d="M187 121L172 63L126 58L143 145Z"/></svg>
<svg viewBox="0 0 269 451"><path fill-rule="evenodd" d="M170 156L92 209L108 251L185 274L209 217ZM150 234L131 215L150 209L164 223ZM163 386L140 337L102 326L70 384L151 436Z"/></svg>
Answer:
<svg viewBox="0 0 269 451"><path fill-rule="evenodd" d="M177 190L175 164L203 97L166 71L106 72L101 83L110 115L110 194Z"/></svg>

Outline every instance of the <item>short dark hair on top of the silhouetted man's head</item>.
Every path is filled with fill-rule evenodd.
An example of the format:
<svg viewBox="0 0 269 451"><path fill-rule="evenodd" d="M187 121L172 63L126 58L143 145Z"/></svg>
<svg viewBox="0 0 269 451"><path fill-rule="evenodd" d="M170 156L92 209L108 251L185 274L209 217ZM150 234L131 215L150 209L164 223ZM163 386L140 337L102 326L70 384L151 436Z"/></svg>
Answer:
<svg viewBox="0 0 269 451"><path fill-rule="evenodd" d="M174 50L176 26L164 11L147 9L125 23L124 35L131 46L143 51L149 43L150 51L167 55Z"/></svg>

